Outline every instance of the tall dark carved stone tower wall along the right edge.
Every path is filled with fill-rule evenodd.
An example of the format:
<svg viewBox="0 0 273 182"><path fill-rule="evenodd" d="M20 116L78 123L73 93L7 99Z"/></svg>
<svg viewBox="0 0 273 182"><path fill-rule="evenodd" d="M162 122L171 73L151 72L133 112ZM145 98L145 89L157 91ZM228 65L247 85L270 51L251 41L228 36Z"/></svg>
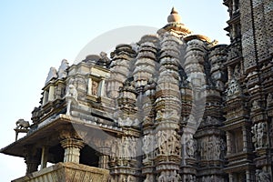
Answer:
<svg viewBox="0 0 273 182"><path fill-rule="evenodd" d="M272 38L270 0L226 0L227 32L226 120L229 181L272 181ZM268 99L269 97L269 99ZM269 101L270 102L270 101ZM242 162L244 161L244 162Z"/></svg>

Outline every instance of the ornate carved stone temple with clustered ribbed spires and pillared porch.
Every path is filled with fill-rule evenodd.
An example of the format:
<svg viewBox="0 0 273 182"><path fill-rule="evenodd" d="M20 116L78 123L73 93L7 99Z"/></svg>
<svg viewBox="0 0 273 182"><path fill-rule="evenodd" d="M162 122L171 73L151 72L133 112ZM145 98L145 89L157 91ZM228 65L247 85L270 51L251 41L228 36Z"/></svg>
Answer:
<svg viewBox="0 0 273 182"><path fill-rule="evenodd" d="M229 45L172 8L156 35L51 67L32 122L0 150L25 158L14 181L272 181L272 0L223 4Z"/></svg>

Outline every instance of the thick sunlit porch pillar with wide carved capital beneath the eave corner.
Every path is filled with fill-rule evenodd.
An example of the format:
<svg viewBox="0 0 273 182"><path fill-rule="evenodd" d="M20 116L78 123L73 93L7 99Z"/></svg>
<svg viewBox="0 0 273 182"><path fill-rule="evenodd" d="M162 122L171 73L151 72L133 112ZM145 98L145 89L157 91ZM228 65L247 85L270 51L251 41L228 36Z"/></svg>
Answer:
<svg viewBox="0 0 273 182"><path fill-rule="evenodd" d="M64 162L79 163L80 149L85 146L84 142L75 138L66 138L61 141L61 145L65 149Z"/></svg>

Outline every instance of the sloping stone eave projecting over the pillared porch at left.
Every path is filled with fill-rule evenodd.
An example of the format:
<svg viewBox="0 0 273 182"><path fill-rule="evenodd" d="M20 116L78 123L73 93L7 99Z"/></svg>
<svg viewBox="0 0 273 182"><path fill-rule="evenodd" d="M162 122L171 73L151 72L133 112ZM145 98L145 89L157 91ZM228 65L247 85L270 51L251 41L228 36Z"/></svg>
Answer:
<svg viewBox="0 0 273 182"><path fill-rule="evenodd" d="M59 133L63 128L72 129L97 129L104 132L121 134L122 130L115 126L98 125L95 122L83 121L79 118L59 115L55 119L45 120L38 124L35 129L31 129L28 134L7 147L0 150L0 153L15 156L25 157L25 147L34 145L35 147L42 147L46 141L50 140L50 146L53 147L59 144ZM41 146L39 146L41 145Z"/></svg>

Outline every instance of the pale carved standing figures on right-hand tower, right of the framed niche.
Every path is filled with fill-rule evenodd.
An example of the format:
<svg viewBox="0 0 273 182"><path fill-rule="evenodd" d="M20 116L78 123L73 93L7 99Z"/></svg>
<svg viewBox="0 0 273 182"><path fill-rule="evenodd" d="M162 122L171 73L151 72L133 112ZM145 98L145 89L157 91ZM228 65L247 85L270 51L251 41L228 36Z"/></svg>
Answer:
<svg viewBox="0 0 273 182"><path fill-rule="evenodd" d="M266 147L268 145L267 142L267 124L266 123L258 123L251 127L252 142L254 147Z"/></svg>

